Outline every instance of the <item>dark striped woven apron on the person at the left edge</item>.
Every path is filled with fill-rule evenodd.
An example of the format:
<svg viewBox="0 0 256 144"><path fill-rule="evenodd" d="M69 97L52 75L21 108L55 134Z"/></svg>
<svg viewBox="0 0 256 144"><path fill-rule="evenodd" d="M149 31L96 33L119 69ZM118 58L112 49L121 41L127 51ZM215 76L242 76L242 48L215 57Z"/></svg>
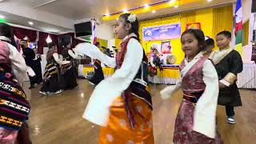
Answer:
<svg viewBox="0 0 256 144"><path fill-rule="evenodd" d="M30 114L30 103L26 94L14 76L0 65L0 127L7 130L19 130Z"/></svg>

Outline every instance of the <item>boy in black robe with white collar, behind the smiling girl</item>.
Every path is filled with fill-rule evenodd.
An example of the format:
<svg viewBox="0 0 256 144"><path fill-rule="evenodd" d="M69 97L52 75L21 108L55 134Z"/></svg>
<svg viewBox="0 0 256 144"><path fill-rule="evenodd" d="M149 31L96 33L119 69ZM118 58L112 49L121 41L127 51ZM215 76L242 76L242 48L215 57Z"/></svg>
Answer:
<svg viewBox="0 0 256 144"><path fill-rule="evenodd" d="M234 124L234 106L242 106L238 86L238 73L242 72L242 58L236 50L230 48L231 33L222 31L217 34L219 50L210 54L219 79L218 105L226 106L227 122Z"/></svg>

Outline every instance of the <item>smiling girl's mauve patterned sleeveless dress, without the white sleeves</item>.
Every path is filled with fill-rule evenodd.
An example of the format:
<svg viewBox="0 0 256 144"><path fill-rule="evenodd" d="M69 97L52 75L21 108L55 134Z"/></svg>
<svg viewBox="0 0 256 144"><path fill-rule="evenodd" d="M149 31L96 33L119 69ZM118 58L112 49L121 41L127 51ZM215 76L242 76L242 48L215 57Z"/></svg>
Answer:
<svg viewBox="0 0 256 144"><path fill-rule="evenodd" d="M174 126L174 143L186 144L222 144L220 134L216 130L216 137L208 138L193 130L194 109L206 85L203 82L203 65L207 58L201 58L190 68L186 75L182 75L183 101L178 110ZM180 65L180 70L185 68L185 62ZM189 97L187 97L187 94ZM217 126L216 126L217 127Z"/></svg>

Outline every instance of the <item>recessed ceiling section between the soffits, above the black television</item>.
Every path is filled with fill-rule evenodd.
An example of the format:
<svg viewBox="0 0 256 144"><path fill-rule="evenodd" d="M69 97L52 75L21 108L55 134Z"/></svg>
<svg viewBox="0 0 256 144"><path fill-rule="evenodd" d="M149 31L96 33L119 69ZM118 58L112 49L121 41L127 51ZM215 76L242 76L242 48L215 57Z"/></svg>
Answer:
<svg viewBox="0 0 256 144"><path fill-rule="evenodd" d="M10 0L22 5L34 7L62 15L66 18L79 20L83 18L102 17L106 13L114 13L123 9L143 6L146 3L161 0ZM46 4L49 2L48 4ZM45 4L45 5L42 5Z"/></svg>

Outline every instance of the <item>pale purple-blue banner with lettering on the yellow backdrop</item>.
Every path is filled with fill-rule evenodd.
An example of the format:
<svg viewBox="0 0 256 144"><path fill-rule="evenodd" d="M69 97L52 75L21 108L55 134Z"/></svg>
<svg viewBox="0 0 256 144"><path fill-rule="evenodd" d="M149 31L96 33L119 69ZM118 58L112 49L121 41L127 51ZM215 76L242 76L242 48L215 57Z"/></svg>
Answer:
<svg viewBox="0 0 256 144"><path fill-rule="evenodd" d="M163 41L181 37L181 23L142 28L143 41Z"/></svg>

